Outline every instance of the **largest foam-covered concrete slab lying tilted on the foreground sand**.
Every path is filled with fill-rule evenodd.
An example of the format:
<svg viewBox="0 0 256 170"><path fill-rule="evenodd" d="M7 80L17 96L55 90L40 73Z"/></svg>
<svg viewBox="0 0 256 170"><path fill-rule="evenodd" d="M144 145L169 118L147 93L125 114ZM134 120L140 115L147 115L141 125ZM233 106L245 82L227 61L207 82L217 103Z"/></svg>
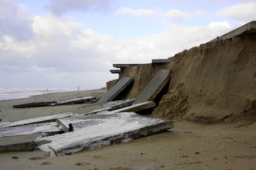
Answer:
<svg viewBox="0 0 256 170"><path fill-rule="evenodd" d="M107 112L61 120L66 121L67 125L72 123L74 131L39 138L39 141L52 141L38 147L40 150L56 156L65 156L173 128L173 122L170 120L140 116L133 112Z"/></svg>

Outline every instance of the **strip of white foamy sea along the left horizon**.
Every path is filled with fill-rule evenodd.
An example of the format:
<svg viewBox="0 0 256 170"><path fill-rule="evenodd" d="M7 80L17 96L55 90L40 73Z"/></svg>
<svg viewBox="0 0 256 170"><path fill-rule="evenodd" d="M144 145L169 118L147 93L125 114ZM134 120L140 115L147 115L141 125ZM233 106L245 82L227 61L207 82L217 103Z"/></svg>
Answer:
<svg viewBox="0 0 256 170"><path fill-rule="evenodd" d="M31 89L31 88L0 88L0 100L20 99L47 92L67 92L77 89Z"/></svg>

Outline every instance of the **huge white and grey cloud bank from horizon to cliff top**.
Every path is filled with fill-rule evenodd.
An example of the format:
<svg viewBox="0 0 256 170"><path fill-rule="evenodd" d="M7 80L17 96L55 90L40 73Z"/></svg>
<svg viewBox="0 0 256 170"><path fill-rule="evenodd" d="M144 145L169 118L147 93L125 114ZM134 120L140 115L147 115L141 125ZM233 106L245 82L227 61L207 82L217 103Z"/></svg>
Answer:
<svg viewBox="0 0 256 170"><path fill-rule="evenodd" d="M7 4L8 9L26 9ZM227 22L206 27L173 24L164 32L117 40L93 29L82 29L81 23L51 15L31 17L6 10L5 16L26 23L23 31L32 37L26 34L21 40L17 37L18 27L13 32L1 32L1 87L100 88L118 77L109 72L114 63L151 63L152 59L168 58L231 29Z"/></svg>

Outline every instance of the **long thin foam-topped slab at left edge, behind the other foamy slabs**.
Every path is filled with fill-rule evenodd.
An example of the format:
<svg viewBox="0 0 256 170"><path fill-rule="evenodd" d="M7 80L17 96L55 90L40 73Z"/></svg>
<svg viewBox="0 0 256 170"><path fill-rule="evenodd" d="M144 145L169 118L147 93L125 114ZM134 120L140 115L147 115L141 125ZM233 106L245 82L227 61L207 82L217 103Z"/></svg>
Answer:
<svg viewBox="0 0 256 170"><path fill-rule="evenodd" d="M50 115L50 116L43 116L43 117L36 117L32 119L26 119L26 120L20 120L16 122L0 122L0 128L3 127L13 127L13 126L22 126L22 125L31 125L36 123L46 123L46 122L55 122L57 118L61 117L70 117L73 114L63 113L63 114L56 114L56 115Z"/></svg>

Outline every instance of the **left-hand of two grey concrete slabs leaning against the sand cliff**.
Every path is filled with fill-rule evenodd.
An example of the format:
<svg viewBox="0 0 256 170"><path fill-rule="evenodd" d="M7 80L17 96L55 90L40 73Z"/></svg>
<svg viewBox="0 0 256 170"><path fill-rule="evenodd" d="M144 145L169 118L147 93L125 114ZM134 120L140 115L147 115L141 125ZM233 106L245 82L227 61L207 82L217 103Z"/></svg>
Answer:
<svg viewBox="0 0 256 170"><path fill-rule="evenodd" d="M97 103L112 101L122 90L124 90L131 82L132 78L127 76L122 77L109 91L102 96Z"/></svg>

